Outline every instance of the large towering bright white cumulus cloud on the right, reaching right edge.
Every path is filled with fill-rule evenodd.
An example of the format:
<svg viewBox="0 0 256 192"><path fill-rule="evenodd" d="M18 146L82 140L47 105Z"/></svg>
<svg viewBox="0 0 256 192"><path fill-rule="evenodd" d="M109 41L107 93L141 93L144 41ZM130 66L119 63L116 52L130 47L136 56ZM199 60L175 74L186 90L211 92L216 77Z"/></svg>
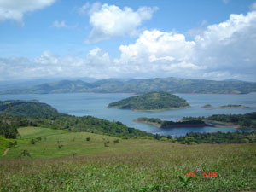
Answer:
<svg viewBox="0 0 256 192"><path fill-rule="evenodd" d="M135 44L119 47L115 63L155 76L256 80L256 12L230 15L198 32L188 41L175 32L144 31Z"/></svg>

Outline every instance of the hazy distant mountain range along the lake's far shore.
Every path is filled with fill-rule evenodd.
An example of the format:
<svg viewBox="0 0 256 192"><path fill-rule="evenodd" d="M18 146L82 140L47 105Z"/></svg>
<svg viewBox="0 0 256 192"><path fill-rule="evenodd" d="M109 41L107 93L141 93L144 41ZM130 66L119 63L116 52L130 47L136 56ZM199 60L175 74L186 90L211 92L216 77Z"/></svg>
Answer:
<svg viewBox="0 0 256 192"><path fill-rule="evenodd" d="M92 83L82 80L62 80L45 83L23 89L6 90L1 94L48 94L73 92L99 93L137 93L153 91L169 93L204 93L204 94L246 94L256 92L256 83L227 82L204 79L102 79Z"/></svg>

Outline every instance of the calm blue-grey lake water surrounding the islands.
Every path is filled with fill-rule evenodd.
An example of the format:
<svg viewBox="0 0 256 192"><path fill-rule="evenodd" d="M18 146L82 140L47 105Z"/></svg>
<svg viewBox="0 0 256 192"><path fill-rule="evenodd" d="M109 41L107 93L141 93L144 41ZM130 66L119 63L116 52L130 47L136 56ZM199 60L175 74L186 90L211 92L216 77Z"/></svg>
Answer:
<svg viewBox="0 0 256 192"><path fill-rule="evenodd" d="M109 102L115 102L132 95L129 94L97 94L97 93L72 93L72 94L47 94L47 95L3 95L0 100L38 99L46 102L61 113L73 114L76 116L90 115L101 119L115 120L137 129L158 133L161 135L181 136L188 132L214 132L214 131L236 131L234 128L172 128L160 129L153 125L146 125L134 122L139 117L154 117L164 120L177 120L185 116L209 116L212 114L226 113L249 113L256 111L256 108L233 108L214 109L200 108L202 105L211 104L218 107L227 104L241 104L256 107L256 93L247 95L218 95L218 94L177 94L186 99L191 108L168 110L161 112L134 112L115 108L106 108Z"/></svg>

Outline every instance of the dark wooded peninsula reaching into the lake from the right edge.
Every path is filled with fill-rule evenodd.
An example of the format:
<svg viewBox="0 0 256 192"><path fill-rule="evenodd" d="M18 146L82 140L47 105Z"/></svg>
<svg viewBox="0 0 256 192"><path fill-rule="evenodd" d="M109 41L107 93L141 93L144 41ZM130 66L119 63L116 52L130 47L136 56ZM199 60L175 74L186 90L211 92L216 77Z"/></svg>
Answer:
<svg viewBox="0 0 256 192"><path fill-rule="evenodd" d="M241 128L256 129L256 112L246 114L214 114L209 117L184 117L183 120L204 120L220 123L231 123Z"/></svg>

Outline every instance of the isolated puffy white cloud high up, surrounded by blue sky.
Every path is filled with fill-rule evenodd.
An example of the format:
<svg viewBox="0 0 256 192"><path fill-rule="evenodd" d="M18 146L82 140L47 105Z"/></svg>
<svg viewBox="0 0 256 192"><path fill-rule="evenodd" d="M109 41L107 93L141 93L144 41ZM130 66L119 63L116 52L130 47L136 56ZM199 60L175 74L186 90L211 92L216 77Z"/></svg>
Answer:
<svg viewBox="0 0 256 192"><path fill-rule="evenodd" d="M84 10L89 9L88 6L89 4L85 4ZM96 43L104 39L132 34L144 20L150 20L157 9L141 7L133 11L128 7L119 9L115 5L103 4L99 8L99 4L93 4L89 9L92 30L85 43Z"/></svg>

